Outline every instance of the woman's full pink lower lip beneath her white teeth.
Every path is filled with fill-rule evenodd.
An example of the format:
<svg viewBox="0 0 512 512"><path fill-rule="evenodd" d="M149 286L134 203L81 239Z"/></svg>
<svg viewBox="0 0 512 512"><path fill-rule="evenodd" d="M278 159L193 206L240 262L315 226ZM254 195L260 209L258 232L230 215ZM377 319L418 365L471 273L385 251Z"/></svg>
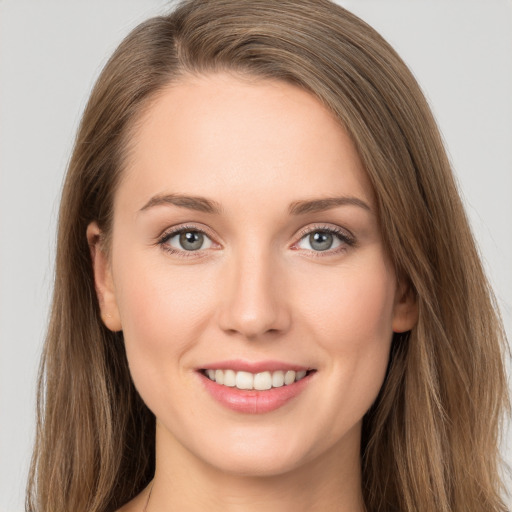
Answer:
<svg viewBox="0 0 512 512"><path fill-rule="evenodd" d="M314 373L309 373L293 384L265 391L231 388L217 384L202 373L199 373L199 376L213 398L228 409L246 414L263 414L275 411L293 400L310 383Z"/></svg>

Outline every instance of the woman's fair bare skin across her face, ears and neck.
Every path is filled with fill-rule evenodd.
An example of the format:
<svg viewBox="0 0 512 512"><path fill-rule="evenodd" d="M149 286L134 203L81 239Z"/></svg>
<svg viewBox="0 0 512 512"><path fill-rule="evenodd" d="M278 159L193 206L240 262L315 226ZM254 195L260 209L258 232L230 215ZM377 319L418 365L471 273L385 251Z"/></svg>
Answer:
<svg viewBox="0 0 512 512"><path fill-rule="evenodd" d="M87 236L103 319L123 330L157 418L147 510L364 510L362 418L393 331L411 329L417 311L386 256L350 138L309 93L232 74L183 78L137 126L110 251L95 223ZM168 194L207 198L220 212L151 203ZM289 211L331 197L367 207ZM159 243L184 225L207 234L200 250L180 249L178 237ZM351 242L334 236L334 248L315 251L309 232L326 228ZM240 413L197 372L234 358L316 372L283 407ZM147 493L122 510L142 511Z"/></svg>

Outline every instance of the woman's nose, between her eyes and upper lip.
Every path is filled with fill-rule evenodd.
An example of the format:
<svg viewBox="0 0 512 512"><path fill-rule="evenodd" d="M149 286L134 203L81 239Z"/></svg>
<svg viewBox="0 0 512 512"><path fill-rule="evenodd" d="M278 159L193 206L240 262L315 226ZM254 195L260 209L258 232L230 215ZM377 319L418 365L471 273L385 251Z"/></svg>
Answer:
<svg viewBox="0 0 512 512"><path fill-rule="evenodd" d="M226 262L219 326L246 339L275 337L291 323L282 268L264 251L247 249Z"/></svg>

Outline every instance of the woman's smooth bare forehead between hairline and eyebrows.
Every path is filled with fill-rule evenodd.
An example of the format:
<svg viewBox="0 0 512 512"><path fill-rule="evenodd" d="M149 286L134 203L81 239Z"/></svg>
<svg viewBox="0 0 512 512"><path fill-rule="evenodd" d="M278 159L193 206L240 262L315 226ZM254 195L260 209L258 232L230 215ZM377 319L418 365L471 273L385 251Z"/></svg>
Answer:
<svg viewBox="0 0 512 512"><path fill-rule="evenodd" d="M130 146L118 195L140 206L164 193L221 203L350 193L372 202L339 121L315 96L281 81L185 77L152 101Z"/></svg>

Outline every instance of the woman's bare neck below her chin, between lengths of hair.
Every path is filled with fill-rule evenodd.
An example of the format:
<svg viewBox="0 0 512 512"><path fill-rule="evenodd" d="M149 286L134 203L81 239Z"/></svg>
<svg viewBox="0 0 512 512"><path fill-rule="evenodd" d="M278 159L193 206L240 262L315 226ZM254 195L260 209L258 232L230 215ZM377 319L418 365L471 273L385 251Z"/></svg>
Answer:
<svg viewBox="0 0 512 512"><path fill-rule="evenodd" d="M355 435L359 438L359 432ZM353 439L280 474L254 476L219 470L161 437L157 429L157 465L147 512L365 510L359 443Z"/></svg>

